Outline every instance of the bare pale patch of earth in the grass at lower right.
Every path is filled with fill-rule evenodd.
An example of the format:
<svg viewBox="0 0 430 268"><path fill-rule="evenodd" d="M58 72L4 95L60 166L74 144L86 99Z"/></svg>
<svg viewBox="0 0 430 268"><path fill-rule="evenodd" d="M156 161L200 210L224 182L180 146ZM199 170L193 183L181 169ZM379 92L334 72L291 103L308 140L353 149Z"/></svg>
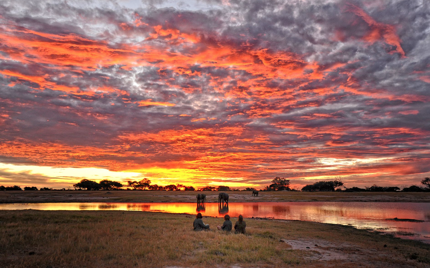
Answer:
<svg viewBox="0 0 430 268"><path fill-rule="evenodd" d="M353 244L336 244L325 240L281 239L280 241L289 244L293 250L313 251L313 256L306 257L306 259L319 261L366 259L369 255L375 254L376 251L357 248ZM383 256L384 253L378 253L378 255Z"/></svg>

